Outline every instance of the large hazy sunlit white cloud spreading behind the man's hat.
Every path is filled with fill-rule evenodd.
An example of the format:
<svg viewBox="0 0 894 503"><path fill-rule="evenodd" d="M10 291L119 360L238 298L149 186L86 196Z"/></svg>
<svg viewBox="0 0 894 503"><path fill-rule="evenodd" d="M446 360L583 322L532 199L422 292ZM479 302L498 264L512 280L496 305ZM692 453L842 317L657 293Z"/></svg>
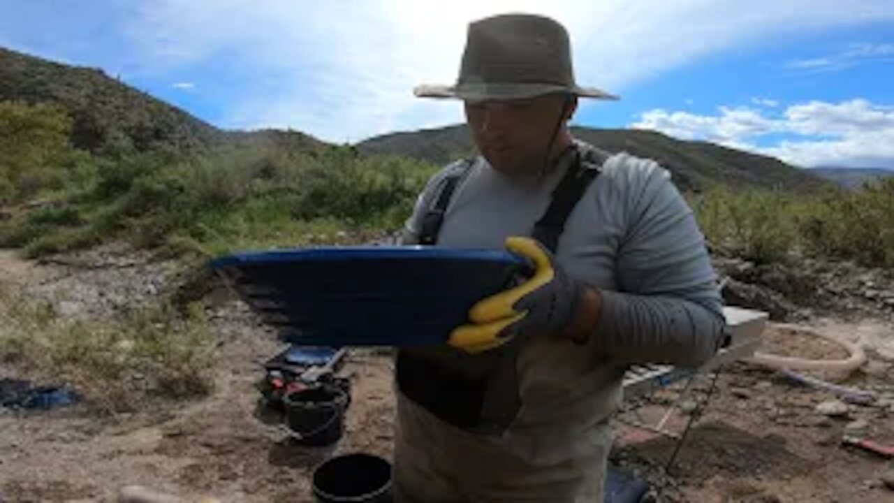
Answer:
<svg viewBox="0 0 894 503"><path fill-rule="evenodd" d="M225 54L233 67L264 75L267 91L233 100L223 125L289 125L326 140L353 141L460 121L456 103L419 100L411 89L453 81L468 21L507 11L562 21L578 81L619 92L774 35L894 19L890 0L847 9L840 0L154 0L139 4L126 32L143 72Z"/></svg>

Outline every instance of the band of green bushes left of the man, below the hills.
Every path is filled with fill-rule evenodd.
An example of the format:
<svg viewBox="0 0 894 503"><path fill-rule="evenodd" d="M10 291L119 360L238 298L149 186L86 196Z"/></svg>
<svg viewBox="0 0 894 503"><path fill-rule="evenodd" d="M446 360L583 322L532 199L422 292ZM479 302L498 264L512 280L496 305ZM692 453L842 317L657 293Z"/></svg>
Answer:
<svg viewBox="0 0 894 503"><path fill-rule="evenodd" d="M31 254L114 236L192 252L349 242L400 228L434 169L342 147L148 151L100 162L89 192L7 226L0 242Z"/></svg>

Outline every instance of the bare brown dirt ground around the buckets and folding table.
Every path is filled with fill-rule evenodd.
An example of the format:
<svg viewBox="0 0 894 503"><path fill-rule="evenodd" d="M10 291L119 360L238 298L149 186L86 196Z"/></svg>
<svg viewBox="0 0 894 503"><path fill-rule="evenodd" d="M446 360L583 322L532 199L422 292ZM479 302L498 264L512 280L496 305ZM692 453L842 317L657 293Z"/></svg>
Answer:
<svg viewBox="0 0 894 503"><path fill-rule="evenodd" d="M62 267L0 252L0 281L78 281L80 273L61 275ZM83 274L86 278L97 271ZM342 370L352 384L344 438L334 448L301 448L255 417L258 363L281 346L243 312L223 306L212 318L223 344L215 391L204 400L159 402L139 413L104 418L86 405L47 413L0 410L0 501L114 501L119 488L129 484L187 499L310 501L309 474L327 457L351 451L390 456L394 404L386 355L350 354ZM613 461L654 482L659 501L894 501L894 491L881 483L882 473L894 469L894 462L840 443L846 426L855 428L860 425L854 422L862 420L865 424L856 431L894 444L894 363L885 359L894 345L894 328L889 320L865 318L812 324L870 347L869 364L844 382L873 390L878 398L873 404L848 405L845 416L826 417L814 408L833 398L830 393L736 363L722 370L670 471L664 465L675 442L621 422ZM840 356L836 348L786 337L775 328L767 332L767 346ZM0 367L4 377L22 376ZM710 378L698 379L683 402L699 403L712 388ZM675 396L675 388L662 390L638 404L637 413L645 419L658 417L662 405ZM692 408L686 405L684 409ZM669 425L682 431L688 417L674 413Z"/></svg>

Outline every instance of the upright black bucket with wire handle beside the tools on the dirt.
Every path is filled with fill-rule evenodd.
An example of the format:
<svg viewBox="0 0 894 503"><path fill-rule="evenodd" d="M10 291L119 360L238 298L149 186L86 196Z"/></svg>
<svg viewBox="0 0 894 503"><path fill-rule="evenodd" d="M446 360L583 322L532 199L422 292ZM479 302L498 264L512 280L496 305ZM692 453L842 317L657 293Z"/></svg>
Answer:
<svg viewBox="0 0 894 503"><path fill-rule="evenodd" d="M344 434L344 413L350 404L348 382L327 382L283 396L285 420L303 446L328 446Z"/></svg>

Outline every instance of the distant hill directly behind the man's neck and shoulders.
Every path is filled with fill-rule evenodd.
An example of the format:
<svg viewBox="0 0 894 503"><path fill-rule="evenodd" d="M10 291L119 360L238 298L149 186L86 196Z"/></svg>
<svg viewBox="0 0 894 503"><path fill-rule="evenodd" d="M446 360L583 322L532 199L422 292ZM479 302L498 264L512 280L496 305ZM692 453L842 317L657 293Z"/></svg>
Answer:
<svg viewBox="0 0 894 503"><path fill-rule="evenodd" d="M674 140L659 132L584 127L574 127L572 132L580 140L611 152L654 158L670 169L676 183L686 190L703 189L714 182L798 190L824 184L821 178L776 158L707 142ZM437 165L474 151L465 125L386 134L360 142L358 149L406 155Z"/></svg>

